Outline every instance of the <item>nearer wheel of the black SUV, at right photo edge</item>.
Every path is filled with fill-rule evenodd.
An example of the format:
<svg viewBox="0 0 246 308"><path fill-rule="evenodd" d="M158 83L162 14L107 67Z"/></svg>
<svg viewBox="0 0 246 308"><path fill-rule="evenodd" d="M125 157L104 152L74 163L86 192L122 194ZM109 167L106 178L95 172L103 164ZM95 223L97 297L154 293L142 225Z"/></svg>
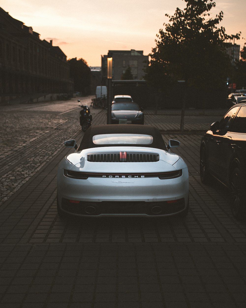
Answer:
<svg viewBox="0 0 246 308"><path fill-rule="evenodd" d="M232 215L237 219L245 218L245 186L240 168L233 168L230 176L230 203Z"/></svg>

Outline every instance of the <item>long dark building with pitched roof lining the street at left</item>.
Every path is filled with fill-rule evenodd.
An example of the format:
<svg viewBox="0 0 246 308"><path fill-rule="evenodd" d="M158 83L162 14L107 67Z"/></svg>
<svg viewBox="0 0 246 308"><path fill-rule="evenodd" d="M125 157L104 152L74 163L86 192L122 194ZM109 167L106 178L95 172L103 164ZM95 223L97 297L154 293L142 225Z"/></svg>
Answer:
<svg viewBox="0 0 246 308"><path fill-rule="evenodd" d="M0 8L0 103L73 92L66 55ZM51 97L52 99L52 97Z"/></svg>

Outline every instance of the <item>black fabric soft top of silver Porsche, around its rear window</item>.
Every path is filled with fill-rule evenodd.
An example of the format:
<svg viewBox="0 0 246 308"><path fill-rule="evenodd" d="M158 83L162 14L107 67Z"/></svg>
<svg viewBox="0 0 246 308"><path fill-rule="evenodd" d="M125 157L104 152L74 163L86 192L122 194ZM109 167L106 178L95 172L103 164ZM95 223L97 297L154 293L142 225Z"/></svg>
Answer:
<svg viewBox="0 0 246 308"><path fill-rule="evenodd" d="M81 144L77 151L88 148L98 148L105 146L119 146L119 144L94 144L93 136L101 134L144 134L153 137L152 144L137 144L138 147L149 147L167 150L164 140L159 130L151 125L139 124L110 124L110 125L94 125L90 126L81 140ZM133 146L133 144L124 144L125 146Z"/></svg>

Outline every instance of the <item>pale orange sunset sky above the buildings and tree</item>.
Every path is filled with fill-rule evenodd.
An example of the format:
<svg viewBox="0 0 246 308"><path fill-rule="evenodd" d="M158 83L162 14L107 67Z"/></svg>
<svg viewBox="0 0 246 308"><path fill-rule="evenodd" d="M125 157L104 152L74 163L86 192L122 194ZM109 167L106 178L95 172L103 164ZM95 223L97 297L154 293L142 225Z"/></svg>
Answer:
<svg viewBox="0 0 246 308"><path fill-rule="evenodd" d="M246 37L246 0L215 0L215 17L224 13L220 26L227 34L241 31L237 41L243 47ZM143 50L148 55L163 23L182 0L1 0L10 16L31 26L40 39L53 40L67 59L83 58L89 66L101 66L101 55L108 50Z"/></svg>

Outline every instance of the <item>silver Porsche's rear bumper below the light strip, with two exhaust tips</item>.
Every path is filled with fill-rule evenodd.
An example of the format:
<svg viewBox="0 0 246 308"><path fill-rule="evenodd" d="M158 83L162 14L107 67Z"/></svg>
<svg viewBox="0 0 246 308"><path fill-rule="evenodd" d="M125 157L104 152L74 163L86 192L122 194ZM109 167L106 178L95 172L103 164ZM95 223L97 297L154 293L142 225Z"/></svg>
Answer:
<svg viewBox="0 0 246 308"><path fill-rule="evenodd" d="M174 179L154 177L123 181L71 179L59 168L58 204L62 211L79 216L168 216L186 209L188 186L188 168Z"/></svg>

